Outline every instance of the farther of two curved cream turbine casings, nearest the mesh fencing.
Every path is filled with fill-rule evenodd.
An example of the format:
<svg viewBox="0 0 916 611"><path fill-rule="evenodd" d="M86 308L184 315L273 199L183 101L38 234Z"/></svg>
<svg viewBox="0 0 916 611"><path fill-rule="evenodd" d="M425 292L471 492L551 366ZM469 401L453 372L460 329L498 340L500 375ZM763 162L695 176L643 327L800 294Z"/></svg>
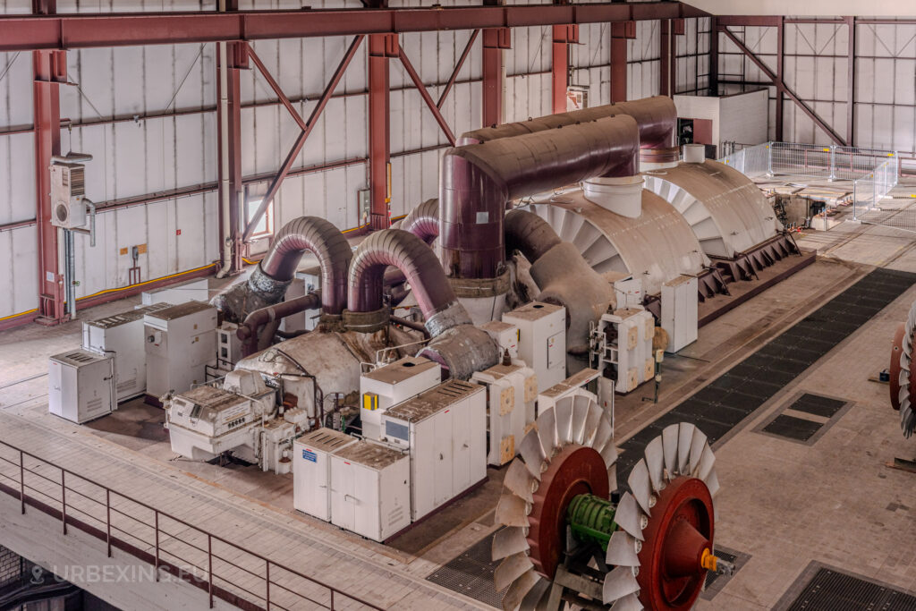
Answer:
<svg viewBox="0 0 916 611"><path fill-rule="evenodd" d="M733 258L782 229L757 185L716 161L682 163L643 177L647 190L682 213L707 256Z"/></svg>

